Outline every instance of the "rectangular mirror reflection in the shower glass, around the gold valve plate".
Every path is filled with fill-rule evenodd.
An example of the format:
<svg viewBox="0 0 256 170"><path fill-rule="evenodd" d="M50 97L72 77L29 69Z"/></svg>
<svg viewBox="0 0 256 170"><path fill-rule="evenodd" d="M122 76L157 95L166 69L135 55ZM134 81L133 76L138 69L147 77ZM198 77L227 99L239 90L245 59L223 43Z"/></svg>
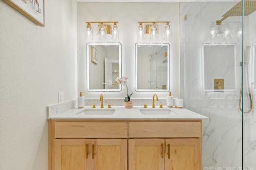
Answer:
<svg viewBox="0 0 256 170"><path fill-rule="evenodd" d="M203 43L202 90L230 92L236 89L236 44Z"/></svg>

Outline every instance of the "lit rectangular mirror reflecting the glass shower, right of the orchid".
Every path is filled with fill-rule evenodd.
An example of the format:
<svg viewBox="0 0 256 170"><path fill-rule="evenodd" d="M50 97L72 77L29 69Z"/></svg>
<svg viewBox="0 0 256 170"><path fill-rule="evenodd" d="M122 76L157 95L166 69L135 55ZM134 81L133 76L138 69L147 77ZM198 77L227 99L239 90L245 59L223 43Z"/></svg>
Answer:
<svg viewBox="0 0 256 170"><path fill-rule="evenodd" d="M170 89L170 45L135 44L135 90L168 92Z"/></svg>

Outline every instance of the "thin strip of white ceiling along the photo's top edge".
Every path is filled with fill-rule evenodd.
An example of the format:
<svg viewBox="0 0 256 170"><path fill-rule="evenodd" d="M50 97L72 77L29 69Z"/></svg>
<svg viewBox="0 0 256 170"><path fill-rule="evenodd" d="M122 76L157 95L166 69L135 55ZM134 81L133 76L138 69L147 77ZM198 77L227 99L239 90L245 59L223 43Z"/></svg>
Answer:
<svg viewBox="0 0 256 170"><path fill-rule="evenodd" d="M77 0L77 2L239 2L240 0Z"/></svg>

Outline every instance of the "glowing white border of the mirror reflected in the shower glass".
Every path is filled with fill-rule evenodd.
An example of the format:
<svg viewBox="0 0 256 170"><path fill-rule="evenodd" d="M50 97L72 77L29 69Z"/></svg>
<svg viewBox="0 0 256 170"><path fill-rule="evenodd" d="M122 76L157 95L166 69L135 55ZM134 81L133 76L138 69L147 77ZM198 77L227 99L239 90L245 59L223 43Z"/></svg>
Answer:
<svg viewBox="0 0 256 170"><path fill-rule="evenodd" d="M205 89L205 80L204 80L204 46L234 46L234 88L233 89ZM202 91L203 92L234 92L236 91L237 82L236 82L236 43L202 43L201 45L201 62L202 62Z"/></svg>

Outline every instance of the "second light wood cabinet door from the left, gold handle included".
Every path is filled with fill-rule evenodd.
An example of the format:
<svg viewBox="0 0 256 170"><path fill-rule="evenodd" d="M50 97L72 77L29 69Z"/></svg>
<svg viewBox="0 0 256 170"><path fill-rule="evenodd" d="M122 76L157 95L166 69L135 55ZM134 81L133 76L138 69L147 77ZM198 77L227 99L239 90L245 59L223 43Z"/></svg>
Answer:
<svg viewBox="0 0 256 170"><path fill-rule="evenodd" d="M127 139L92 139L92 170L127 170Z"/></svg>

